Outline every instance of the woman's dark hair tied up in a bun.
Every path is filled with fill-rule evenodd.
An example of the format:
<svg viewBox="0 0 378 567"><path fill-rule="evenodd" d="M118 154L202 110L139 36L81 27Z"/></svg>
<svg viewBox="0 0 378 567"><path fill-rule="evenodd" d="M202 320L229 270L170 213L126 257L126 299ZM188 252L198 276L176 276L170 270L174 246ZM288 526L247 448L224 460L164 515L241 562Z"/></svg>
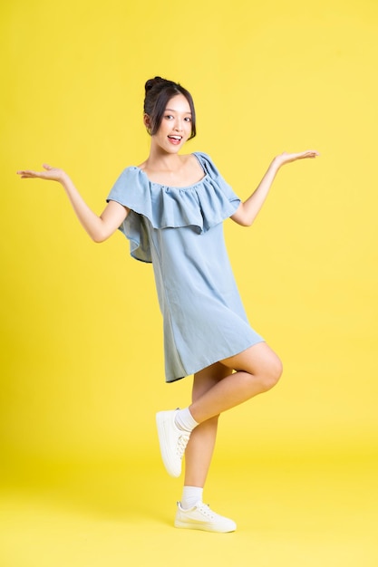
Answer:
<svg viewBox="0 0 378 567"><path fill-rule="evenodd" d="M189 91L181 87L179 82L167 81L161 77L149 79L144 85L146 96L144 98L143 110L150 116L150 129L151 136L156 134L160 128L160 123L163 118L165 109L167 108L168 101L178 94L183 94L189 102L191 111L191 134L189 139L194 138L196 135L196 112L194 110L194 102Z"/></svg>

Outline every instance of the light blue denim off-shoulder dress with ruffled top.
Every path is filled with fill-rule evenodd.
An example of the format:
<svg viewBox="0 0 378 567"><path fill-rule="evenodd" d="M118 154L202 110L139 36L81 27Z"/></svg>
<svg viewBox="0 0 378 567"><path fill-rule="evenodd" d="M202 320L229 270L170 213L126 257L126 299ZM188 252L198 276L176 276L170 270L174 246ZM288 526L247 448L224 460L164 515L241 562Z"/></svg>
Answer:
<svg viewBox="0 0 378 567"><path fill-rule="evenodd" d="M247 322L224 241L222 221L240 199L208 155L193 155L204 170L198 183L167 187L130 167L107 199L131 209L120 230L131 256L153 265L167 382L264 341Z"/></svg>

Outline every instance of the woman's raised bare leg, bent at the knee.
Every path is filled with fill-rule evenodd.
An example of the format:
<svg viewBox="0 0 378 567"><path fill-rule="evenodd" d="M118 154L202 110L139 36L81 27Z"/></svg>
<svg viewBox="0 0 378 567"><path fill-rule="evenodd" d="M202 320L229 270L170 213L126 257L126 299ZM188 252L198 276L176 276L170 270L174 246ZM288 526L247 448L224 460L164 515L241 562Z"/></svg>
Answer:
<svg viewBox="0 0 378 567"><path fill-rule="evenodd" d="M221 360L221 363L226 369L237 371L216 380L212 387L204 388L203 393L193 399L189 410L199 424L218 418L222 411L273 388L282 373L281 361L266 342L259 342L246 351Z"/></svg>

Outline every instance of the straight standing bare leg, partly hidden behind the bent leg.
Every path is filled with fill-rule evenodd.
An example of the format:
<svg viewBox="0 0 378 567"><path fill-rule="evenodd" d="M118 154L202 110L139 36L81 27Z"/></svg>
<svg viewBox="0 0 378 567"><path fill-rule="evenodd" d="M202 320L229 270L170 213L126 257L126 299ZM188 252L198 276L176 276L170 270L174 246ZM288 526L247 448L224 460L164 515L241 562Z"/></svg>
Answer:
<svg viewBox="0 0 378 567"><path fill-rule="evenodd" d="M205 395L219 380L223 380L231 372L224 364L217 362L194 375L193 402ZM207 419L195 428L190 436L185 451L185 486L205 485L211 457L217 437L218 416Z"/></svg>

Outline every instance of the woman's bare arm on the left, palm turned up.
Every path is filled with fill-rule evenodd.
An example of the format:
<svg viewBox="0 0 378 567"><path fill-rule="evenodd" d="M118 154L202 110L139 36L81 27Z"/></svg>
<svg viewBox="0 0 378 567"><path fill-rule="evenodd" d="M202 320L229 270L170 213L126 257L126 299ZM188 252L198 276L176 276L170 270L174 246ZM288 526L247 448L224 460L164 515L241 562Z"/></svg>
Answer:
<svg viewBox="0 0 378 567"><path fill-rule="evenodd" d="M47 164L44 164L44 169L45 171L24 169L17 171L17 174L24 179L40 178L58 181L70 199L80 223L94 242L103 242L109 238L128 215L129 209L116 201L110 201L103 210L102 215L96 215L85 203L79 191L73 185L73 181L63 169L52 168Z"/></svg>

